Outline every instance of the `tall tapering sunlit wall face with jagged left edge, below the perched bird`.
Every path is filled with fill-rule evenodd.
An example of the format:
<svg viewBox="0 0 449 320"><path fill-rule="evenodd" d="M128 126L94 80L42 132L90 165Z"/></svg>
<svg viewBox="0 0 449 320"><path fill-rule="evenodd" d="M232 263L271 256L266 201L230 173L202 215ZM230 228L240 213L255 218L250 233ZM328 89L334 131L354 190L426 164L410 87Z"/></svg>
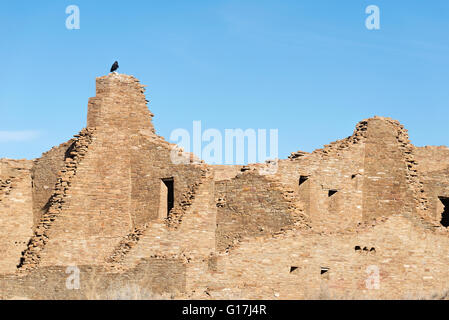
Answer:
<svg viewBox="0 0 449 320"><path fill-rule="evenodd" d="M88 129L65 159L52 206L24 253L24 267L98 264L132 228L128 125L134 123L131 108L141 102L140 90L132 77L97 79Z"/></svg>

